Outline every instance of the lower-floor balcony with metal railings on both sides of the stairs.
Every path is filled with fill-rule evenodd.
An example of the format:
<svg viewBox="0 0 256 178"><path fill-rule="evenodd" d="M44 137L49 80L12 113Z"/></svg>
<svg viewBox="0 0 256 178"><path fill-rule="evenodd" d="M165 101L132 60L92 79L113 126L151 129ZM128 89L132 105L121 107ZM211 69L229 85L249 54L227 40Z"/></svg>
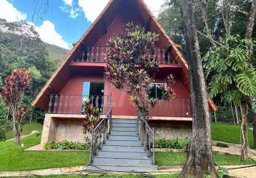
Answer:
<svg viewBox="0 0 256 178"><path fill-rule="evenodd" d="M90 99L91 104L99 108L102 115L107 113L110 105L115 105L110 95L90 97L87 95L50 95L48 113L82 115L82 102L85 99ZM159 100L157 106L149 112L149 117L192 117L191 100L190 98Z"/></svg>

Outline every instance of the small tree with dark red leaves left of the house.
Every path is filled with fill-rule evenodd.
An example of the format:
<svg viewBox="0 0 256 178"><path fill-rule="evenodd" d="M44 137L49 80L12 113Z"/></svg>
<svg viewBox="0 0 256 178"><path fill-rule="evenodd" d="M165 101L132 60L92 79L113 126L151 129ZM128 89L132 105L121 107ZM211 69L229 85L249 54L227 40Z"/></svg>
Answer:
<svg viewBox="0 0 256 178"><path fill-rule="evenodd" d="M22 119L29 112L24 108L24 93L29 90L30 73L26 68L13 70L4 80L5 86L1 92L6 108L9 108L13 119L14 139L21 141Z"/></svg>

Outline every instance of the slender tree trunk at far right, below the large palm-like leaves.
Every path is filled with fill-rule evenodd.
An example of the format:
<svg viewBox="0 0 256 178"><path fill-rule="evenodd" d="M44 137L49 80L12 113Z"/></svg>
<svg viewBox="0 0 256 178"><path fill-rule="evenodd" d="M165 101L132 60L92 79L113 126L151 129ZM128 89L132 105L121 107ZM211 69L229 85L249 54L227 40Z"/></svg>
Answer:
<svg viewBox="0 0 256 178"><path fill-rule="evenodd" d="M248 158L248 136L247 136L247 100L241 100L241 114L242 114L242 124L241 124L241 132L242 132L242 142L241 142L241 160L245 160Z"/></svg>

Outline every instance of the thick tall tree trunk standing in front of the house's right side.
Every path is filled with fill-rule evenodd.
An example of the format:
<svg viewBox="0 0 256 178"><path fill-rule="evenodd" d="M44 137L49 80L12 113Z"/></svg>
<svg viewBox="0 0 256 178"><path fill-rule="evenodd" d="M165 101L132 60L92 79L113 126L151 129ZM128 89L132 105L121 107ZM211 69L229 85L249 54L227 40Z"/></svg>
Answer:
<svg viewBox="0 0 256 178"><path fill-rule="evenodd" d="M210 174L211 177L215 178L217 175L212 157L209 105L191 3L191 0L181 0L179 4L186 32L190 91L193 106L192 142L180 177L205 178L206 174Z"/></svg>

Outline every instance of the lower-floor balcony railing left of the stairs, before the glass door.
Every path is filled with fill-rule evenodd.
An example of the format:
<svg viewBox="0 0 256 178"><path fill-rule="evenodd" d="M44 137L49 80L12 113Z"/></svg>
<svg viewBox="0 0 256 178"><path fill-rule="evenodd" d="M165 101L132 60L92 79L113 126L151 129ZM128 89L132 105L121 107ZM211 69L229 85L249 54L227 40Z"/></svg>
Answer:
<svg viewBox="0 0 256 178"><path fill-rule="evenodd" d="M48 113L50 114L82 114L82 103L89 99L90 103L106 114L109 110L110 95L50 95Z"/></svg>

